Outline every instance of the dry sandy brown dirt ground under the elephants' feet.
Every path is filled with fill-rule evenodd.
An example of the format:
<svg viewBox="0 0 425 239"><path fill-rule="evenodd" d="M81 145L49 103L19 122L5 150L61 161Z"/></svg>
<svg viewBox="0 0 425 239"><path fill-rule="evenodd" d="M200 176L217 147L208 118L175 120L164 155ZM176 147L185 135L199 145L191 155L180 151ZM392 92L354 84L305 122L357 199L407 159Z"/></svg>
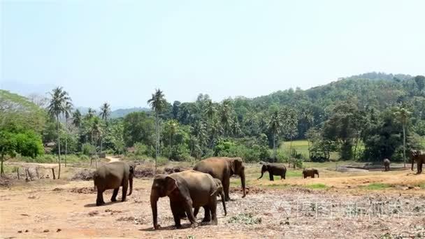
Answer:
<svg viewBox="0 0 425 239"><path fill-rule="evenodd" d="M252 175L250 175L252 171ZM403 238L425 237L425 174L326 172L321 178L256 180L247 168L246 198L231 179L232 201L218 226L173 228L168 198L160 198L159 224L152 230L152 179L137 179L127 201L95 206L92 181L36 180L0 189L0 238ZM65 174L64 174L65 175ZM268 175L266 175L268 176ZM395 187L367 190L368 183ZM308 184L326 184L311 189ZM350 187L349 187L350 186ZM121 192L121 190L120 190ZM120 194L118 194L120 197ZM201 221L203 210L198 215Z"/></svg>

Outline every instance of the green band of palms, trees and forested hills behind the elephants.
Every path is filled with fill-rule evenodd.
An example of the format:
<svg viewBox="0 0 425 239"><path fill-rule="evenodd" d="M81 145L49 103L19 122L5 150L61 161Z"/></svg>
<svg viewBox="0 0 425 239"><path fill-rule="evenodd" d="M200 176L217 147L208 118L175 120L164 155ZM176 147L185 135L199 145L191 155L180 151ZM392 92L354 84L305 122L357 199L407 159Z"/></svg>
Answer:
<svg viewBox="0 0 425 239"><path fill-rule="evenodd" d="M46 150L58 154L59 165L60 154L106 151L161 161L243 157L301 168L306 161L406 161L406 151L425 144L421 75L367 73L307 90L218 103L206 94L194 102L168 103L157 89L147 101L151 111L138 108L119 118L111 116L108 103L99 115L92 108L73 110L61 87L53 89L48 104L38 98L0 91L3 159L36 158L42 143L49 143L53 146ZM15 147L18 135L37 150Z"/></svg>

